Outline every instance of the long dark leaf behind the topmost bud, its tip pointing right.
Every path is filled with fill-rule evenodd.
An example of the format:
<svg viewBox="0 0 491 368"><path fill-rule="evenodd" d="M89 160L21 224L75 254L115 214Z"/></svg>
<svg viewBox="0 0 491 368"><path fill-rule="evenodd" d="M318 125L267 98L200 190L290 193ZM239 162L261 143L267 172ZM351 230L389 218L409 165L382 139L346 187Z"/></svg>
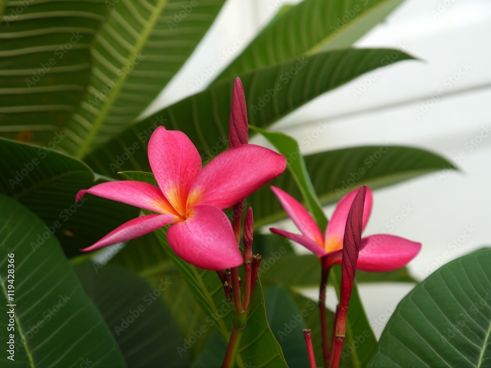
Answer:
<svg viewBox="0 0 491 368"><path fill-rule="evenodd" d="M381 66L391 49L344 49L305 56L302 62L285 61L257 71L241 74L246 92L248 121L258 127L271 125L304 103L357 76ZM407 54L395 61L412 59ZM296 66L298 67L296 69ZM292 68L297 71L291 73ZM301 69L300 69L301 68ZM114 176L109 163L118 171L150 171L146 146L159 125L181 130L196 145L203 161L208 161L227 147L228 118L235 78L229 78L207 90L179 101L155 115L134 124L104 147L85 158L90 167ZM272 98L270 95L274 95ZM117 161L133 145L127 160Z"/></svg>

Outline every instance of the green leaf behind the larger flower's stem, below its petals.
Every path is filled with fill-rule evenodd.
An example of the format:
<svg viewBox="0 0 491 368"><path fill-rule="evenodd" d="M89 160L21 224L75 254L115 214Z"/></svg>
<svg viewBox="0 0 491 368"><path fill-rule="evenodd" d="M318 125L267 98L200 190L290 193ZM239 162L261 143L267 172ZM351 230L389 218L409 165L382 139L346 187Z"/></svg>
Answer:
<svg viewBox="0 0 491 368"><path fill-rule="evenodd" d="M125 172L124 175L134 180L147 178L147 182L150 183L153 179L151 173ZM144 211L144 213L146 212ZM155 234L183 275L191 293L207 315L206 319L213 322L221 337L228 343L229 331L232 327L232 307L226 300L217 273L198 269L179 258L167 244L166 227L156 230ZM239 274L244 278L242 268L240 268ZM263 291L259 279L254 290L247 327L242 333L241 347L237 358L239 367L244 367L244 364L249 364L249 362L257 366L263 362L268 362L268 367L287 367L281 347L274 338L266 319Z"/></svg>

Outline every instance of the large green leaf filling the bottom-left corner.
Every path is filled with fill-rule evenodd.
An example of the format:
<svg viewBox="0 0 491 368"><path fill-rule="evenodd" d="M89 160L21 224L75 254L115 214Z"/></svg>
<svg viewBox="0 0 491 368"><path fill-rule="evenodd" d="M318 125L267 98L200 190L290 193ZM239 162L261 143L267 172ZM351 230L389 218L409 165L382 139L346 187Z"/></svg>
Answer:
<svg viewBox="0 0 491 368"><path fill-rule="evenodd" d="M33 251L29 242L43 233L44 223L7 196L0 195L0 209L0 312L5 316L0 321L0 340L4 349L10 334L15 341L15 361L8 360L11 354L4 350L0 365L79 367L90 361L94 367L126 367L109 328L83 292L56 238L49 236ZM12 309L14 314L7 315ZM13 319L13 326L8 326L7 316ZM12 327L14 330L7 330Z"/></svg>

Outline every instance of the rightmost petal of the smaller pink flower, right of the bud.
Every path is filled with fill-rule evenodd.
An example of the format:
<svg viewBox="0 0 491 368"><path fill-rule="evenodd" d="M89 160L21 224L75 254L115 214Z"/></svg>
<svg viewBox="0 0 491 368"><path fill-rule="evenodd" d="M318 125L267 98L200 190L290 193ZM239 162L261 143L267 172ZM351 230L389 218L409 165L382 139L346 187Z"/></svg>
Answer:
<svg viewBox="0 0 491 368"><path fill-rule="evenodd" d="M386 272L406 266L421 249L421 243L394 235L371 235L361 240L357 268L362 271Z"/></svg>

